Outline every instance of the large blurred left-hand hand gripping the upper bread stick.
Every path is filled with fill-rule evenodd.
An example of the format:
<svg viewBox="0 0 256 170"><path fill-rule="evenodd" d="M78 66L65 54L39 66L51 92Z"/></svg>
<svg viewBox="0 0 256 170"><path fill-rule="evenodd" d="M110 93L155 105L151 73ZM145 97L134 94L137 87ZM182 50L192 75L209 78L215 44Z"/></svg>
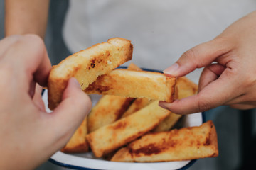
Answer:
<svg viewBox="0 0 256 170"><path fill-rule="evenodd" d="M72 78L63 101L46 113L33 100L35 86L46 86L50 60L36 35L0 41L0 169L34 169L68 142L91 102Z"/></svg>

